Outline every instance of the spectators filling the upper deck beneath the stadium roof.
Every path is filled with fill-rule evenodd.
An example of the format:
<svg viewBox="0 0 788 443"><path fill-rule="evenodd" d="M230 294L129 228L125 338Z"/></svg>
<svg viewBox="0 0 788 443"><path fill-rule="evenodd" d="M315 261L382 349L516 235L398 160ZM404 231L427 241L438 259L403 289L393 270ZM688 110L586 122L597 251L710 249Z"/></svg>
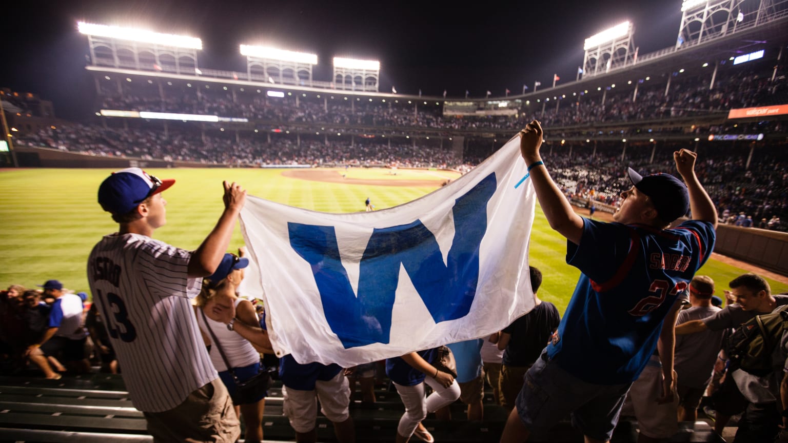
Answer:
<svg viewBox="0 0 788 443"><path fill-rule="evenodd" d="M533 118L546 128L586 127L613 122L656 121L665 118L725 114L732 108L788 102L784 66L777 72L764 63L726 69L709 89L711 73L690 76L670 73L607 91L580 91L550 101L522 102L514 115L455 116L444 114L439 103L407 99L367 99L329 95L318 98L271 98L245 92L198 87L159 91L150 85L122 84L120 90L102 89L103 109L210 114L244 117L278 124L314 123L385 128L437 128L446 130L522 128ZM772 76L775 79L772 80ZM671 79L671 84L667 84ZM601 89L601 87L600 87ZM259 91L259 90L257 90ZM355 101L354 101L355 99ZM371 100L371 101L370 101Z"/></svg>

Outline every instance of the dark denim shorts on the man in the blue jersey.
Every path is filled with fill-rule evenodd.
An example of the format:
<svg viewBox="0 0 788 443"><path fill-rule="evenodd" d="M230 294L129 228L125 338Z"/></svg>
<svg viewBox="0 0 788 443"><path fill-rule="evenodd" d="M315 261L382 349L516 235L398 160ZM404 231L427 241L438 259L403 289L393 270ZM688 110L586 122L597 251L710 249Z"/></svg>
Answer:
<svg viewBox="0 0 788 443"><path fill-rule="evenodd" d="M608 441L619 422L630 385L583 382L542 352L526 372L525 384L517 396L517 411L522 424L537 436L571 416L572 424L583 434Z"/></svg>

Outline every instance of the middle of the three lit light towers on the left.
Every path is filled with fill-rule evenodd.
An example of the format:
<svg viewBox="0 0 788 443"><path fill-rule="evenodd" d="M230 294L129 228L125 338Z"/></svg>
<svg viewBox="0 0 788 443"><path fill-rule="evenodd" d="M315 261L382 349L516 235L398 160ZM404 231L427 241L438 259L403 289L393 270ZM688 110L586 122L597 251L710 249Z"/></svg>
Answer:
<svg viewBox="0 0 788 443"><path fill-rule="evenodd" d="M251 45L241 45L240 51L247 58L247 74L251 80L312 84L312 66L318 64L315 54Z"/></svg>

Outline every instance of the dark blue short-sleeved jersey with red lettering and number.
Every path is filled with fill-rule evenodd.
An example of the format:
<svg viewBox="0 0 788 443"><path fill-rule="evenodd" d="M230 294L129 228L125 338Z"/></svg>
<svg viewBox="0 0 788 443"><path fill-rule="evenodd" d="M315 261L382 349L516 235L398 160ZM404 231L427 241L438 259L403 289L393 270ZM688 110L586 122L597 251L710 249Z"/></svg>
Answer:
<svg viewBox="0 0 788 443"><path fill-rule="evenodd" d="M705 221L675 229L585 219L567 263L581 271L548 358L589 383L633 382L649 361L667 313L714 248Z"/></svg>

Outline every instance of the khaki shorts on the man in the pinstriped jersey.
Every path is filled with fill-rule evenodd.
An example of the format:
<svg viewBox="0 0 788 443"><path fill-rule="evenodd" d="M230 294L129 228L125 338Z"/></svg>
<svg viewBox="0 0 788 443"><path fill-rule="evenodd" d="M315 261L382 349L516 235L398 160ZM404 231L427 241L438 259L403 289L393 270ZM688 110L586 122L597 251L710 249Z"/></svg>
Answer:
<svg viewBox="0 0 788 443"><path fill-rule="evenodd" d="M236 411L219 378L196 389L175 408L144 412L147 430L158 441L233 443L241 434Z"/></svg>

